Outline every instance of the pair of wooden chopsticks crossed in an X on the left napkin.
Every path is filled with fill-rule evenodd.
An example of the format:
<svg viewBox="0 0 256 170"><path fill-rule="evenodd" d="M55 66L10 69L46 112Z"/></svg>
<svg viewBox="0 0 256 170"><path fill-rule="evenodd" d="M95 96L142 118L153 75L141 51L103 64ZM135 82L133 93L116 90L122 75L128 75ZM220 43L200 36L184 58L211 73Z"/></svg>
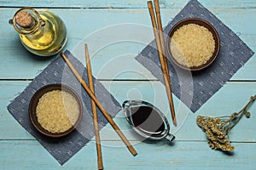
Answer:
<svg viewBox="0 0 256 170"><path fill-rule="evenodd" d="M103 163L102 163L102 148L101 148L101 140L99 135L99 127L97 122L97 113L96 113L96 106L99 108L100 111L102 111L103 116L106 117L109 124L113 127L116 133L118 133L120 139L123 140L128 150L130 150L131 154L133 156L137 156L137 151L133 148L131 143L126 139L124 133L121 132L119 127L115 122L113 122L113 119L111 116L109 116L108 111L106 111L102 104L99 102L99 100L96 98L96 95L94 94L94 86L92 81L92 73L91 73L91 67L90 67L90 56L88 52L88 46L85 44L85 59L86 59L86 65L87 65L87 72L88 72L88 81L89 86L87 86L86 82L84 82L84 79L79 75L79 72L74 68L72 63L67 59L67 56L63 53L61 53L61 57L65 60L71 71L73 71L73 74L81 85L84 87L87 94L90 95L91 99L91 107L92 107L92 113L93 113L93 121L94 121L94 127L95 127L95 133L96 133L96 150L97 150L97 163L98 163L98 169L103 169Z"/></svg>

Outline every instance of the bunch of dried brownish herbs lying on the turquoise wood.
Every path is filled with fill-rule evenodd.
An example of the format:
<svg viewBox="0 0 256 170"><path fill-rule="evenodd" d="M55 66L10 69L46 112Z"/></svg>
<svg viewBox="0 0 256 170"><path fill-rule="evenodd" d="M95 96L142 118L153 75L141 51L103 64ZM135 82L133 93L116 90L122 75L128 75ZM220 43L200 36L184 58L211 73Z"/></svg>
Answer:
<svg viewBox="0 0 256 170"><path fill-rule="evenodd" d="M252 96L241 111L235 112L230 116L197 116L196 123L207 134L208 144L212 149L223 151L233 151L235 149L230 144L229 133L243 115L247 118L250 117L250 112L247 111L247 108L255 99L256 95Z"/></svg>

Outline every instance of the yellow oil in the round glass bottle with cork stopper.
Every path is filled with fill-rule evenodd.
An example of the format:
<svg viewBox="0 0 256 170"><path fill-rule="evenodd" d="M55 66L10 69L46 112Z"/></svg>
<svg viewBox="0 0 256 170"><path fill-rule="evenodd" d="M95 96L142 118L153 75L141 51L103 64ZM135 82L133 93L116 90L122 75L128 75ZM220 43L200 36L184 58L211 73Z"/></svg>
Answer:
<svg viewBox="0 0 256 170"><path fill-rule="evenodd" d="M21 30L20 40L24 47L32 54L39 56L51 56L59 53L67 42L67 29L61 18L47 10L38 11L38 14L30 14L35 22L32 25L33 28L18 27ZM39 17L40 20L36 17Z"/></svg>

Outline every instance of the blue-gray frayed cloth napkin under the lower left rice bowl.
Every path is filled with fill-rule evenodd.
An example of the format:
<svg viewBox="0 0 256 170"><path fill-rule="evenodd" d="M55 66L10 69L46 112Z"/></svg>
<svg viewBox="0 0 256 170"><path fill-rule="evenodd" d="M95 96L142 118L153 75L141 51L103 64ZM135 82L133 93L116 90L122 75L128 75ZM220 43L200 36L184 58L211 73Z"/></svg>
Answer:
<svg viewBox="0 0 256 170"><path fill-rule="evenodd" d="M73 57L69 51L66 51L65 54L87 82L87 71L86 68L84 68L84 65L82 65L78 59ZM77 94L79 94L80 99L83 100L84 111L79 127L77 127L73 133L70 133L66 137L62 137L61 139L52 139L38 133L35 127L32 126L28 115L28 107L32 95L35 94L39 88L53 83L66 84L73 88ZM109 94L108 90L102 86L101 82L96 81L94 78L94 83L97 99L99 99L103 107L111 116L115 116L121 109L119 103L111 94ZM73 72L70 71L61 56L49 64L44 71L42 71L38 77L36 77L27 88L9 104L8 110L20 125L24 127L27 132L31 133L32 136L38 139L38 142L42 144L44 148L61 163L61 165L82 149L95 135L91 115L90 96L84 91L84 88L81 87L76 77L73 76ZM101 129L108 122L105 117L102 116L101 111L97 110L97 113L99 127Z"/></svg>

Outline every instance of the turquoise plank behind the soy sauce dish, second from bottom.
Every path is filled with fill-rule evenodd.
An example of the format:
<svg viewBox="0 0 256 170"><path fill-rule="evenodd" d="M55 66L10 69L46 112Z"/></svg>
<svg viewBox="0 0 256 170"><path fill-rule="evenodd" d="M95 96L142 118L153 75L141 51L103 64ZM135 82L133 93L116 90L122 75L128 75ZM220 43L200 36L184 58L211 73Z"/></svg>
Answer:
<svg viewBox="0 0 256 170"><path fill-rule="evenodd" d="M168 100L166 97L165 87L158 81L101 81L105 88L122 104L126 99L143 99L156 105L160 111L166 114L171 121L169 115ZM0 88L6 89L0 96L0 139L34 139L20 124L9 114L6 106L9 101L26 87L28 82L17 81L1 81ZM241 88L242 87L242 88ZM234 111L240 111L246 105L252 94L256 94L256 82L228 82L221 88L217 94L207 101L199 111L195 114L192 112L180 112L179 107L185 107L174 96L174 105L177 106L177 116L180 114L188 114L188 118L184 120L183 126L175 131L177 140L200 140L205 141L205 135L196 125L196 116L225 116L230 115ZM234 94L239 92L239 94ZM222 103L223 105L220 105ZM251 118L243 117L241 122L231 131L230 139L236 142L256 142L254 135L256 124L256 103L254 103L249 111L252 113ZM124 129L125 136L137 143L138 136L131 131L131 127L126 122L122 111L113 119L120 129ZM173 127L174 128L174 127ZM174 129L172 129L172 132ZM246 131L246 133L244 133ZM112 127L108 125L101 131L101 139L105 141L119 141L119 136L115 134Z"/></svg>

